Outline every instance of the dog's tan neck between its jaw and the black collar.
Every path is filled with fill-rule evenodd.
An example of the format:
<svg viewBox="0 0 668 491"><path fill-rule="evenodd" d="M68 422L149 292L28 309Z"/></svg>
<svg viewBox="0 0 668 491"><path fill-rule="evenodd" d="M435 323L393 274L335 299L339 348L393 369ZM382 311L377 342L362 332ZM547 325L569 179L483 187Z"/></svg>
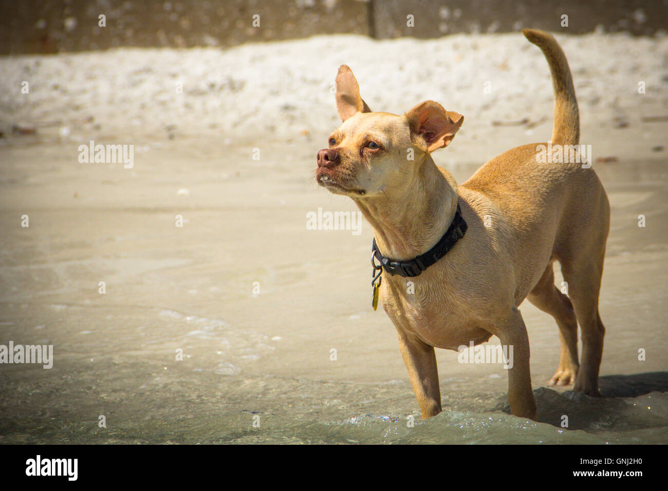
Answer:
<svg viewBox="0 0 668 491"><path fill-rule="evenodd" d="M440 170L431 156L424 156L400 192L385 190L380 196L355 199L373 227L381 254L406 261L429 251L454 218L457 183Z"/></svg>

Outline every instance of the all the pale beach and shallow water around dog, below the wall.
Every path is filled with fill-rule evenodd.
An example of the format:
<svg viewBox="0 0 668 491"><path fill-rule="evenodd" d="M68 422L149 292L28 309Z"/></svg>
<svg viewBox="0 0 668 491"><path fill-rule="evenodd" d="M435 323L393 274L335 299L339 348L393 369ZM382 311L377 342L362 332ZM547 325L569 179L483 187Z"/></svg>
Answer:
<svg viewBox="0 0 668 491"><path fill-rule="evenodd" d="M357 212L313 178L341 63L373 110L464 114L434 154L458 182L546 141L550 75L519 33L26 55L0 58L0 344L54 359L0 365L0 443L666 443L668 39L558 41L612 209L602 399L546 386L558 331L525 301L540 421L510 416L499 365L437 350L444 412L421 422L371 309L371 227L307 226ZM132 167L80 162L91 140Z"/></svg>

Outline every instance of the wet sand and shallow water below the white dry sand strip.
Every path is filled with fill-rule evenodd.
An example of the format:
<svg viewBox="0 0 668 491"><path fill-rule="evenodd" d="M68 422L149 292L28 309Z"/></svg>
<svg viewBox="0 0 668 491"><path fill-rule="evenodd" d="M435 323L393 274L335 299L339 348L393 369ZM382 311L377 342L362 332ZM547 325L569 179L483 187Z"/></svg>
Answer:
<svg viewBox="0 0 668 491"><path fill-rule="evenodd" d="M305 227L318 206L353 210L309 180L310 148L277 142L260 166L200 143L150 144L132 172L73 164L57 144L0 150L0 344L55 355L52 369L0 365L0 443L668 442L663 162L597 169L613 208L606 397L544 387L557 329L524 303L540 422L508 414L499 365L441 350L444 412L422 422L394 328L369 305L369 226Z"/></svg>

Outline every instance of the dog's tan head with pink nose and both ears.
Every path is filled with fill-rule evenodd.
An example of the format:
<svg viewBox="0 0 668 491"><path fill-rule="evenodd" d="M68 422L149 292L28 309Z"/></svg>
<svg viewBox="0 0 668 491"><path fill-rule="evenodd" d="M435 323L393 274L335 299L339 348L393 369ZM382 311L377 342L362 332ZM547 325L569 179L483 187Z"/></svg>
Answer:
<svg viewBox="0 0 668 491"><path fill-rule="evenodd" d="M464 116L438 102L418 104L403 116L371 112L347 65L336 77L341 127L318 152L315 178L335 194L372 198L408 186L424 157L448 146Z"/></svg>

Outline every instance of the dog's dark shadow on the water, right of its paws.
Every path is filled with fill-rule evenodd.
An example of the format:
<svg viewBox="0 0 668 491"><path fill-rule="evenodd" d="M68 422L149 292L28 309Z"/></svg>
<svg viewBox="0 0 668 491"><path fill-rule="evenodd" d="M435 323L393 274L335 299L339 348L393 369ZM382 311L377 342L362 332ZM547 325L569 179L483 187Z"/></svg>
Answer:
<svg viewBox="0 0 668 491"><path fill-rule="evenodd" d="M534 389L538 422L568 430L639 430L665 426L665 417L653 414L647 407L647 399L643 399L641 405L634 405L633 401L621 397L668 392L668 372L599 377L599 390L603 395L601 398L572 390L558 392L548 387ZM510 414L507 401L501 401L494 409ZM565 427L562 426L564 421L567 422Z"/></svg>

